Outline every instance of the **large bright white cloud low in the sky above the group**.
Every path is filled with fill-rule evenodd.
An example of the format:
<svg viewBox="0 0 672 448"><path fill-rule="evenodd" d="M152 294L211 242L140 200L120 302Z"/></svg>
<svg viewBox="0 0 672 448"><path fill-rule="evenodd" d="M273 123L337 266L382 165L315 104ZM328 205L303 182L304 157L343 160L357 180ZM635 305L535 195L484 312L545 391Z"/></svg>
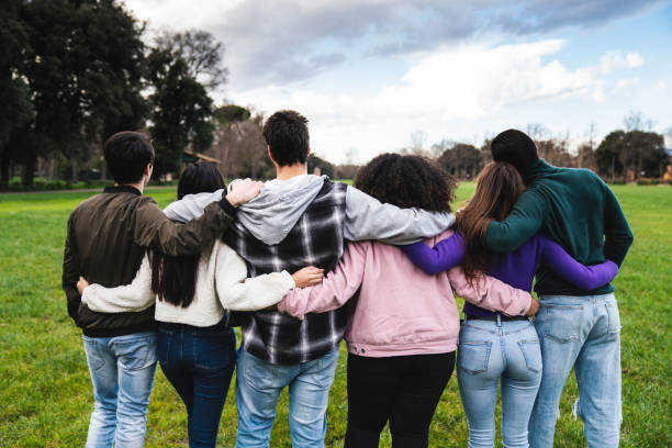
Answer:
<svg viewBox="0 0 672 448"><path fill-rule="evenodd" d="M445 48L411 66L403 78L363 94L318 93L326 89L268 86L235 94L264 112L295 109L312 122L313 147L335 161L356 147L368 158L393 150L417 128L448 128L456 120L496 115L506 107L538 99L604 100L594 67L569 69L550 59L561 40ZM356 67L352 68L356 70Z"/></svg>

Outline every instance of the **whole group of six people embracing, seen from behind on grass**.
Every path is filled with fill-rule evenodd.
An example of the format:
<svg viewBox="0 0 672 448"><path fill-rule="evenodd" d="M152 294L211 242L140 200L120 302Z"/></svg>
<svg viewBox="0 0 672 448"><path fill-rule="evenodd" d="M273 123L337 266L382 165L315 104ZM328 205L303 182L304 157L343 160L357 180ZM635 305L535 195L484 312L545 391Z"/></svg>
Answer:
<svg viewBox="0 0 672 448"><path fill-rule="evenodd" d="M157 361L191 447L215 446L235 366L236 447L269 447L285 388L292 446L324 447L344 338L346 447L378 447L388 422L393 447L427 447L456 365L469 447L494 446L500 384L504 447L552 447L572 368L589 447L618 446L609 282L632 234L596 175L508 130L453 215L456 183L432 160L383 154L350 187L307 173L300 113L276 112L264 136L276 179L226 188L197 163L164 211L143 195L147 136L105 142L115 184L70 215L63 275L93 383L87 447L143 445Z"/></svg>

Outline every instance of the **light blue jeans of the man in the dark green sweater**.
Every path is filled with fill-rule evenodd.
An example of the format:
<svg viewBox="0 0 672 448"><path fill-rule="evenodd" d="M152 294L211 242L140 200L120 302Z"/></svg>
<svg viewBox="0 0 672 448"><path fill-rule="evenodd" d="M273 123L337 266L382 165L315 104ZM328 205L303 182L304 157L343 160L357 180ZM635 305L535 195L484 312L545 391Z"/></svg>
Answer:
<svg viewBox="0 0 672 448"><path fill-rule="evenodd" d="M535 326L544 374L529 422L533 448L551 448L562 389L572 367L575 403L591 448L618 447L620 432L620 317L614 294L542 295Z"/></svg>

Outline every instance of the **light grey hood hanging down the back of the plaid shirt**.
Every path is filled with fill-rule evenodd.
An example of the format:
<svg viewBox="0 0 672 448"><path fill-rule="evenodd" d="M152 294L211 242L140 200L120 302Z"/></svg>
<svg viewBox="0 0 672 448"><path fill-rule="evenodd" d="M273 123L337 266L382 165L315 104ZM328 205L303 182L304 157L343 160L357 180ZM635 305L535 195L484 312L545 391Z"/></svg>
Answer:
<svg viewBox="0 0 672 448"><path fill-rule="evenodd" d="M282 242L313 202L326 176L303 175L269 180L261 193L238 208L237 221L255 238L272 246Z"/></svg>

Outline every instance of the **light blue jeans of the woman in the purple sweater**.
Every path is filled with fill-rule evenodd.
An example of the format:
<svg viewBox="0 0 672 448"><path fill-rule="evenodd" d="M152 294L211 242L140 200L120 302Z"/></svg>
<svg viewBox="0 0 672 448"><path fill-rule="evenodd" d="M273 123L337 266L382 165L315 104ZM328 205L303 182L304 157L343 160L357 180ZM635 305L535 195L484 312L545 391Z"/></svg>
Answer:
<svg viewBox="0 0 672 448"><path fill-rule="evenodd" d="M494 447L500 381L503 445L528 447L527 424L541 381L541 351L531 323L467 320L460 329L457 367L469 448Z"/></svg>

